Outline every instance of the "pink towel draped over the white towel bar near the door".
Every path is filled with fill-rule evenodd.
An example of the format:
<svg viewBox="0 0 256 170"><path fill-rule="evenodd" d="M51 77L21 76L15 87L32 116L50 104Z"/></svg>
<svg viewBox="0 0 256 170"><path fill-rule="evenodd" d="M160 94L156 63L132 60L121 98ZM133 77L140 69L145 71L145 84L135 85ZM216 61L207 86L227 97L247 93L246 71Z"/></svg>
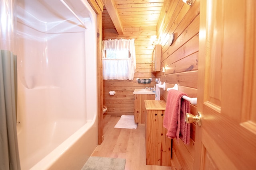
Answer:
<svg viewBox="0 0 256 170"><path fill-rule="evenodd" d="M184 95L187 96L178 90L168 91L163 126L167 129L167 137L176 137L178 142L180 138L189 145L190 124L185 122L185 116L186 113L190 113L190 103L182 99Z"/></svg>

